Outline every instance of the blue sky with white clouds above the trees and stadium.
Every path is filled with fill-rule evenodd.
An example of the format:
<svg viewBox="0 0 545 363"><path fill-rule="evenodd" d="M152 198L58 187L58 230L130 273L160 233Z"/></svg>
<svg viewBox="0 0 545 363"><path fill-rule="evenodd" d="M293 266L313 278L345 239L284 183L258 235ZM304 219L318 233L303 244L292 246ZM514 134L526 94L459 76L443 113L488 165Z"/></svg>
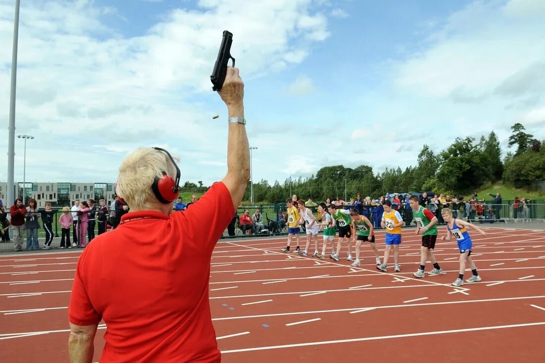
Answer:
<svg viewBox="0 0 545 363"><path fill-rule="evenodd" d="M14 3L0 0L6 151ZM35 137L26 180L115 181L138 146L180 156L183 181L221 179L227 112L210 74L225 29L258 147L254 180L405 167L424 143L439 151L491 130L506 146L516 122L542 139L544 17L532 0L22 0L16 135Z"/></svg>

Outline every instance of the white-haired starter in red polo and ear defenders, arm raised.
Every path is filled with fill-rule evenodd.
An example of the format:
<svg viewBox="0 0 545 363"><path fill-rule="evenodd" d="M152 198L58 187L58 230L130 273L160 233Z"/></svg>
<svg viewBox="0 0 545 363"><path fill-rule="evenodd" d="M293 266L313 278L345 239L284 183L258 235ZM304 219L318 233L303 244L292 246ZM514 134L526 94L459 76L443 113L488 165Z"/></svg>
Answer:
<svg viewBox="0 0 545 363"><path fill-rule="evenodd" d="M166 150L138 148L119 167L116 192L130 211L78 260L68 309L72 363L93 361L101 320L101 362L221 361L208 301L210 258L250 179L238 69L228 68L219 93L229 113L227 174L198 203L172 213L180 174Z"/></svg>

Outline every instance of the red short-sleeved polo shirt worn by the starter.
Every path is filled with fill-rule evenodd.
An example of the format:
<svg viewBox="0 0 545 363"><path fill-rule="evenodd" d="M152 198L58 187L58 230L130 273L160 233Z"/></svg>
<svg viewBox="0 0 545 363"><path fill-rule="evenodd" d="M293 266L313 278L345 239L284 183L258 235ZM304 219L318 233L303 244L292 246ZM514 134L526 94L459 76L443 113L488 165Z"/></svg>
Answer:
<svg viewBox="0 0 545 363"><path fill-rule="evenodd" d="M102 362L220 362L208 301L210 258L234 214L214 184L193 207L138 211L77 263L69 320L107 329Z"/></svg>

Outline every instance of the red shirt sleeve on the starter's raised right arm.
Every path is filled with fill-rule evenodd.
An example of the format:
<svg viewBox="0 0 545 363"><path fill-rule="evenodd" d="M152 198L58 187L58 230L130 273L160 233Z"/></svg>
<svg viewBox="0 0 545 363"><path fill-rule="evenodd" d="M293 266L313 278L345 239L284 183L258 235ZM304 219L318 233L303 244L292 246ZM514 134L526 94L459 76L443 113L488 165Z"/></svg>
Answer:
<svg viewBox="0 0 545 363"><path fill-rule="evenodd" d="M219 181L191 205L191 208L180 213L171 214L171 218L181 223L179 227L183 228L182 233L193 240L199 250L211 255L217 240L233 219L231 193L227 186Z"/></svg>

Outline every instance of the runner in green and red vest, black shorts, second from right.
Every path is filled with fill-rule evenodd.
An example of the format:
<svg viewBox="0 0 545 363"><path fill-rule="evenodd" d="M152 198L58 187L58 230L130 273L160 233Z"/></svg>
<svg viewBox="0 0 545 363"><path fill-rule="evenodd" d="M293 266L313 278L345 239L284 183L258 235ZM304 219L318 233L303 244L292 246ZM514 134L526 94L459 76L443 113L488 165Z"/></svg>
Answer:
<svg viewBox="0 0 545 363"><path fill-rule="evenodd" d="M433 270L429 271L428 275L441 275L443 270L439 267L437 259L433 256L435 241L437 241L437 217L431 210L422 207L417 196L409 198L410 208L413 209L413 217L416 221L416 234L422 233L422 246L420 247L420 268L413 274L420 279L424 277L424 269L426 261L433 264Z"/></svg>

